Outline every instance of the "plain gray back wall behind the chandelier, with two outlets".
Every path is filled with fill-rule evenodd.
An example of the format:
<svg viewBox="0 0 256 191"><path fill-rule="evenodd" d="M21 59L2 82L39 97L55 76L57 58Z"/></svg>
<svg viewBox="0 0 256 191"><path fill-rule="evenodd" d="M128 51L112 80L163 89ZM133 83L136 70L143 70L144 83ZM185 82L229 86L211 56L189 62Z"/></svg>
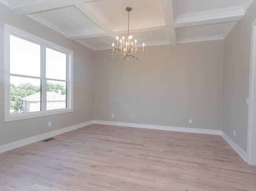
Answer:
<svg viewBox="0 0 256 191"><path fill-rule="evenodd" d="M146 47L149 56L129 62L96 51L93 119L221 130L223 47L223 40Z"/></svg>

